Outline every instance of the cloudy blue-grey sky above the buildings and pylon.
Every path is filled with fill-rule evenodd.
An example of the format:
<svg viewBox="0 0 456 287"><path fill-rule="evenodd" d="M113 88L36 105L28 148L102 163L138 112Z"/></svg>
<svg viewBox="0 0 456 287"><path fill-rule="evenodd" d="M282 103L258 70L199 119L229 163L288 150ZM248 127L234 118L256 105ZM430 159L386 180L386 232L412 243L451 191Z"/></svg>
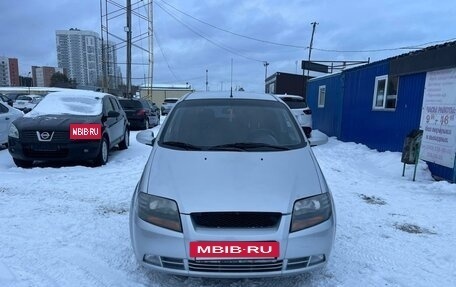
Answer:
<svg viewBox="0 0 456 287"><path fill-rule="evenodd" d="M109 32L125 39L125 0L108 0ZM132 0L147 15L146 0ZM455 0L154 0L154 83L189 83L209 90L243 87L264 91L275 72L302 74L309 55L312 22L317 22L312 60L370 61L456 40ZM102 0L103 6L105 0ZM99 0L0 0L0 56L18 58L20 75L32 65L57 66L55 31L79 28L101 34ZM147 22L132 17L133 37ZM120 40L109 36L120 44ZM137 39L137 38L136 38ZM148 50L147 39L135 45ZM358 51L358 52L353 52ZM133 84L147 76L148 54L133 53ZM126 48L118 50L125 76ZM231 77L231 62L233 76ZM318 74L314 74L318 75Z"/></svg>

